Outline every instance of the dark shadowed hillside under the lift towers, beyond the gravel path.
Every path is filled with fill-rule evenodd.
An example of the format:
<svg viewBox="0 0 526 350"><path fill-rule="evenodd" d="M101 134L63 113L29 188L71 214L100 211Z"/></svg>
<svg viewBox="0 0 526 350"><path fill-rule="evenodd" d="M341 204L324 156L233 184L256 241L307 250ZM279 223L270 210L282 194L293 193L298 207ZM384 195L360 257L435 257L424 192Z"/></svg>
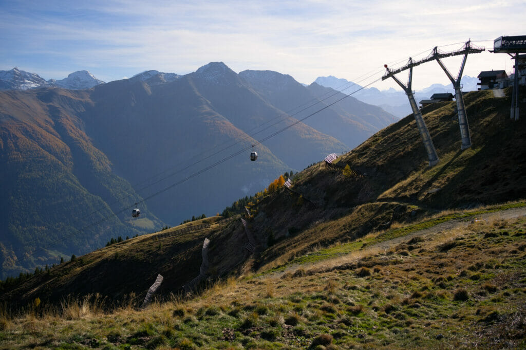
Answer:
<svg viewBox="0 0 526 350"><path fill-rule="evenodd" d="M523 199L526 119L509 119L507 93L507 98L494 98L491 91L466 96L473 147L464 151L460 151L452 103L424 109L441 158L432 168L414 119L407 117L337 160L364 176L318 163L296 175L292 191L281 187L252 198L250 217L215 217L207 219L207 225L194 223L192 229L174 227L130 239L18 285L4 285L2 298L24 304L39 296L53 302L69 292L85 295L104 288L105 295L112 298L133 292L141 299L157 273L167 281L161 291L161 295L167 295L183 291L183 286L198 274L205 237L211 242L206 277L214 280L265 271L320 247L354 244L371 232L391 227L394 231L389 231L390 235L403 235L406 231L397 231L397 225L418 222L443 209ZM511 147L514 152L502 152ZM501 181L488 180L495 177ZM247 220L246 229L241 217ZM252 242L249 235L253 236ZM247 248L248 243L255 247L254 253ZM131 266L134 276L119 277L129 281L114 285L118 271L126 275ZM78 283L72 290L73 279L97 283Z"/></svg>

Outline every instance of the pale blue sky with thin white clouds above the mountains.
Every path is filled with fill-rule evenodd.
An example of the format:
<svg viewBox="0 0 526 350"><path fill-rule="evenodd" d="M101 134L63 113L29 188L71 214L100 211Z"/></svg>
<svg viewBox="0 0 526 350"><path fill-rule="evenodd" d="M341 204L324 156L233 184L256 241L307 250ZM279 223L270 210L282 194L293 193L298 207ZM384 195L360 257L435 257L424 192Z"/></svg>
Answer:
<svg viewBox="0 0 526 350"><path fill-rule="evenodd" d="M306 84L373 74L365 85L383 64L422 58L434 46L454 51L471 38L492 49L501 35L526 35L525 13L524 0L0 0L0 70L62 79L87 69L109 82L222 61L235 72L269 69ZM444 62L456 75L460 58ZM468 57L464 75L512 66L506 54L483 52ZM436 62L414 68L414 89L432 83L449 83ZM373 86L397 87L392 79Z"/></svg>

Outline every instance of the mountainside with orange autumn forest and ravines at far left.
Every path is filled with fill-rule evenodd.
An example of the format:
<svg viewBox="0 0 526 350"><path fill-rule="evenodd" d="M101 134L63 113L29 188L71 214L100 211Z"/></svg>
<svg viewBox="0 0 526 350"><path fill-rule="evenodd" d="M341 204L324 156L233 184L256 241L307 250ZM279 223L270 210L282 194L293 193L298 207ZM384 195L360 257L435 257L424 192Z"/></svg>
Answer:
<svg viewBox="0 0 526 350"><path fill-rule="evenodd" d="M2 278L145 232L128 222L131 209L121 212L129 198L141 198L83 131L75 109L86 98L59 90L0 94ZM147 228L160 227L143 210Z"/></svg>

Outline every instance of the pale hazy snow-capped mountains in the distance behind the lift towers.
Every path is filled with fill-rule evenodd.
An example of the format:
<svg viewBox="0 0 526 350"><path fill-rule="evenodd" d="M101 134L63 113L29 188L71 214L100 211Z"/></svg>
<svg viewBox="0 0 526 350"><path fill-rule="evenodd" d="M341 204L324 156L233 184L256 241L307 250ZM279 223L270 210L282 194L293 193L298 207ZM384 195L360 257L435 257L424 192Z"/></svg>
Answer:
<svg viewBox="0 0 526 350"><path fill-rule="evenodd" d="M332 75L327 77L318 77L315 83L331 87L335 90L349 94L361 88L360 85L347 81L346 79L336 78ZM462 91L473 91L477 89L478 78L469 75L463 76L461 79L463 85ZM429 87L421 89L414 94L414 98L418 101L428 99L431 95L436 93L452 93L454 95L453 85L432 84ZM380 91L376 87L364 88L352 95L362 102L380 106L385 111L396 115L397 117L404 117L411 113L411 107L407 101L406 93L397 91L393 88Z"/></svg>

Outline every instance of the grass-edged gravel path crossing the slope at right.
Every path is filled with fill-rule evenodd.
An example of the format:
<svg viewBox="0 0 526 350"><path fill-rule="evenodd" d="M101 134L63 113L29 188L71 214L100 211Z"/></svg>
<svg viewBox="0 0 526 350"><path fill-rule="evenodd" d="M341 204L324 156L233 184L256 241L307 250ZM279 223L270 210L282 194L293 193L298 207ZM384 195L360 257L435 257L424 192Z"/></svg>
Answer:
<svg viewBox="0 0 526 350"><path fill-rule="evenodd" d="M479 219L479 220L489 220L489 219L493 219L493 218L512 219L512 218L517 218L517 217L521 217L521 216L526 216L526 207L506 209L506 210L499 211L499 212L494 212L494 213L485 213L485 214L478 215L477 219ZM294 272L294 271L296 271L296 269L298 269L301 266L303 266L303 267L308 266L309 268L316 268L317 266L328 267L330 265L334 265L334 266L340 265L343 260L349 261L350 259L358 258L358 257L364 256L364 255L368 255L368 254L371 254L372 252L387 250L387 249L389 249L389 248L391 248L393 246L396 246L396 245L398 245L398 244L400 244L402 242L409 241L412 237L417 237L417 236L425 237L425 236L430 236L430 235L433 235L433 234L437 234L437 233L439 233L441 231L447 231L447 230L454 229L454 228L466 227L474 219L475 219L474 217L464 218L464 219L452 219L452 220L450 220L448 222L444 222L444 223L435 225L435 226L430 227L430 228L425 228L425 229L421 229L420 231L411 232L411 233L409 233L409 234L407 234L405 236L402 236L402 237L397 237L397 238L389 239L389 241L384 241L384 242L379 242L379 243L376 243L376 244L371 244L368 247L360 249L360 251L358 251L358 252L350 252L349 254L342 255L342 256L339 256L337 258L331 257L331 258L328 258L328 259L323 260L323 261L319 261L319 262L316 262L316 263L308 263L306 265L291 264L291 265L287 266L284 270L276 272L276 273L272 273L270 276L267 275L267 277L274 277L274 278L275 277L280 277L285 272Z"/></svg>

